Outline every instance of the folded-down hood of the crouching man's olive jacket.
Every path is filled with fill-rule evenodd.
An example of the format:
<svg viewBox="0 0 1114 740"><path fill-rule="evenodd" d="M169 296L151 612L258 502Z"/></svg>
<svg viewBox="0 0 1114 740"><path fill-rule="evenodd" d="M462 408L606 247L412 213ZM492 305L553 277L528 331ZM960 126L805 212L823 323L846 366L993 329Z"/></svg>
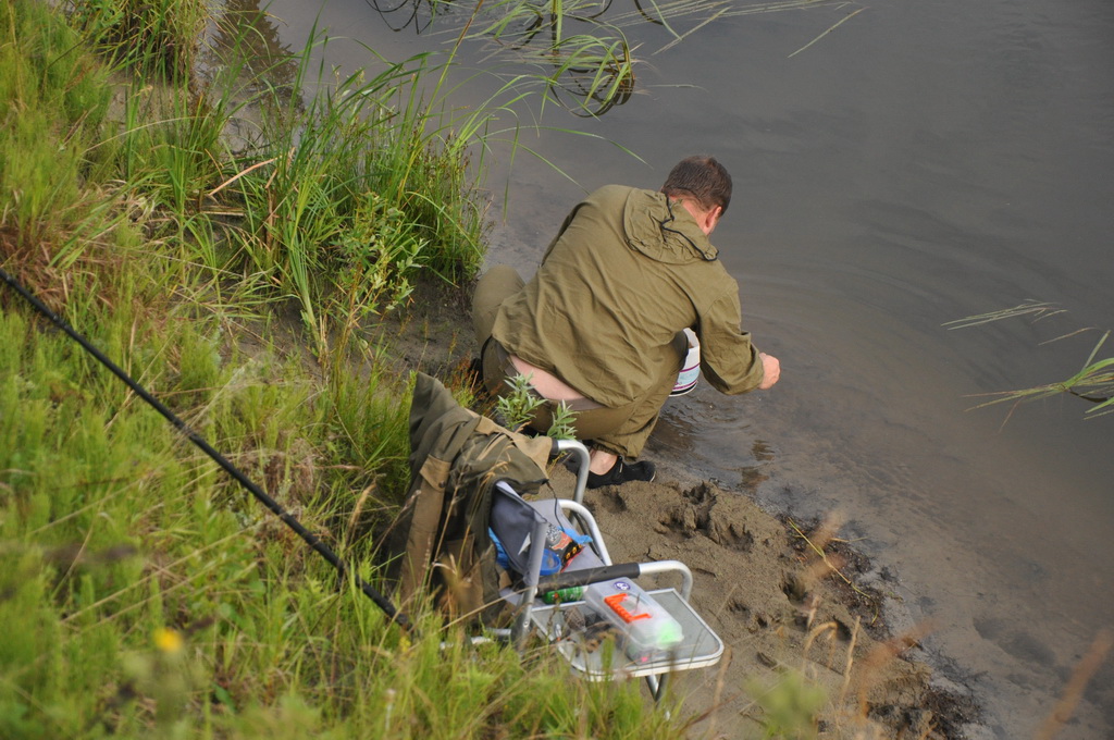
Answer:
<svg viewBox="0 0 1114 740"><path fill-rule="evenodd" d="M623 228L632 249L667 264L711 262L719 256L692 214L671 204L664 193L632 191L623 210Z"/></svg>

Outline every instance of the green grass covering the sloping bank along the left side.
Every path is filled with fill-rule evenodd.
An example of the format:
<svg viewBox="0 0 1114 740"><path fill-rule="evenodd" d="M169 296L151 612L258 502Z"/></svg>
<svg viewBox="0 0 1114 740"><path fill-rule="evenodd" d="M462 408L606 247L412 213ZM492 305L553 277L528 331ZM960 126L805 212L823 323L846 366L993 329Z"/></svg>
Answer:
<svg viewBox="0 0 1114 740"><path fill-rule="evenodd" d="M233 153L231 94L144 77L180 60L95 35L98 59L33 0L0 18L0 264L381 583L409 388L360 320L479 264L467 147L388 67ZM676 737L636 682L571 681L547 646L472 648L426 608L411 643L6 288L0 306L0 737Z"/></svg>

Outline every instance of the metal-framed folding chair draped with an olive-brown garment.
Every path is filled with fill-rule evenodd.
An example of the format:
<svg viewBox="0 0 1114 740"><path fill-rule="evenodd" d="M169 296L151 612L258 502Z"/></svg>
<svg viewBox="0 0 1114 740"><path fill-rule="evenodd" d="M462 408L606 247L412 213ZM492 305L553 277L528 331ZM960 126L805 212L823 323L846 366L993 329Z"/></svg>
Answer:
<svg viewBox="0 0 1114 740"><path fill-rule="evenodd" d="M479 621L485 622L499 611L487 608L486 603L500 597L517 607L510 629L489 629L473 642L510 640L521 649L527 636L536 632L556 643L575 672L595 681L644 676L655 699L661 698L668 673L713 665L720 660L723 642L688 605L693 580L683 563L612 563L604 537L584 507L588 483L588 450L584 445L517 435L462 408L440 381L422 373L414 381L410 441L410 491L392 532L397 542L390 547L401 555L403 603L419 590L429 587L434 576L443 578L441 573L451 571L456 585L446 590L441 583L434 588L451 595L450 603L460 613L480 614ZM573 498L524 500L521 491L538 491L545 481L546 459L563 452L580 463ZM518 486L521 491L516 490ZM553 552L546 547L550 527L588 535L592 545L583 547L567 563L563 561L559 573L543 578L543 561L547 552ZM517 574L514 587L500 590L497 585L498 566L490 554L492 538L488 537L488 530L502 545L508 559L514 559L514 567L508 569ZM657 624L675 626L675 621L680 630L672 630L668 640L644 640L635 659L626 654L629 644L620 644L623 629L615 642L616 650L594 646L593 641L598 636L594 623L600 617L585 602L546 604L538 597L569 586L606 584L616 578L632 580L628 588L634 593L642 588L636 588L633 580L659 573L680 575L680 591L653 590L647 592L648 600L665 610ZM651 610L639 610L635 604L626 616L633 624L649 613ZM651 622L638 622L625 634L645 632L648 626ZM655 651L656 645L668 645L668 650Z"/></svg>

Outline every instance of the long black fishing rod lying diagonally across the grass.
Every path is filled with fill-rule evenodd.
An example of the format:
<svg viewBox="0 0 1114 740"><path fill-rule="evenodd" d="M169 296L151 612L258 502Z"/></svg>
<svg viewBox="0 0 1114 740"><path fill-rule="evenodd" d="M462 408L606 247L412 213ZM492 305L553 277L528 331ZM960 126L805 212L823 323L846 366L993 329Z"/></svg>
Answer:
<svg viewBox="0 0 1114 740"><path fill-rule="evenodd" d="M74 328L70 327L68 323L66 323L66 321L62 320L61 317L59 317L57 313L48 309L39 299L37 299L35 295L28 292L27 289L20 285L19 282L13 276L8 274L8 272L6 272L3 269L0 269L0 279L2 279L3 282L8 283L8 285L10 285L12 290L19 293L23 298L23 300L26 300L28 303L35 306L35 309L39 313L49 319L51 323L53 323L56 327L66 332L70 337L70 339L80 344L85 349L85 351L87 351L92 357L97 358L97 360L99 360L101 364L111 370L117 378L123 380L128 388L134 390L139 396L139 398L147 401L147 403L154 407L156 411L162 413L163 417L172 425L174 425L178 429L178 431L185 435L189 441L192 441L203 452L213 458L213 460L222 468L224 468L224 470L229 476L232 476L241 486L246 488L252 494L252 496L256 498L256 500L258 500L261 504L271 509L271 512L273 512L275 516L282 519L287 527L293 529L297 534L297 536L301 537L303 541L305 541L305 543L310 547L315 549L322 557L324 557L329 562L330 565L336 568L336 572L340 573L342 577L351 573L352 578L355 581L355 584L360 586L360 591L362 591L364 595L368 596L371 601L375 602L375 605L379 606L381 610L383 610L383 612L389 617L391 617L391 620L395 624L399 624L400 626L402 626L408 631L411 629L410 621L407 619L405 614L399 612L394 607L394 604L392 604L385 596L375 591L370 583L361 578L358 573L350 571L348 565L345 565L344 561L342 561L336 555L336 553L334 553L332 548L329 547L329 545L321 542L321 539L316 535L314 535L312 532L303 527L301 522L291 516L291 514L286 512L286 509L284 509L282 506L280 506L275 499L267 496L267 494L262 488L256 486L247 476L241 473L241 470L236 466L229 463L223 455L221 455L221 452L216 451L213 448L213 446L209 445L207 441L205 441L196 431L190 429L185 421L179 419L177 415L174 413L174 411L166 408L166 406L164 406L162 401L159 401L157 398L148 393L143 386L136 382L119 366L117 366L115 362L105 357L104 352L98 350L85 337L75 331Z"/></svg>

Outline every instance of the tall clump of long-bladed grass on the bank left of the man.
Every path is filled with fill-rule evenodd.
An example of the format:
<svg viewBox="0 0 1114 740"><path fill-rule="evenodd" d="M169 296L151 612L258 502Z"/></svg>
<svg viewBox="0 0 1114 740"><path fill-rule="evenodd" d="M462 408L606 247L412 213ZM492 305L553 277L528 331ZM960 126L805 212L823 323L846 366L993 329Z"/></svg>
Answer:
<svg viewBox="0 0 1114 740"><path fill-rule="evenodd" d="M301 57L297 89L313 51ZM362 319L403 302L420 270L460 281L481 264L486 206L467 145L417 104L429 74L423 57L384 62L304 104L268 89L263 144L219 188L240 214L225 267L293 298L323 360L338 332L343 344Z"/></svg>

